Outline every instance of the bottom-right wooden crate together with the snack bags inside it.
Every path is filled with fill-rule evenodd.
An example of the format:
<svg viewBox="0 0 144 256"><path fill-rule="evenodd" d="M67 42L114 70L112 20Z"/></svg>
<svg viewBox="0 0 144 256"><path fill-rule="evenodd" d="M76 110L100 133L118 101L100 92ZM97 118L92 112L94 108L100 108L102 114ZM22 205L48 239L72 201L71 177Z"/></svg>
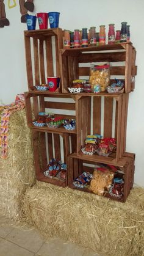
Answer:
<svg viewBox="0 0 144 256"><path fill-rule="evenodd" d="M100 160L100 159L99 159ZM92 167L93 164L93 167ZM120 161L94 161L71 154L68 156L68 186L98 196L125 202L133 185L134 158Z"/></svg>

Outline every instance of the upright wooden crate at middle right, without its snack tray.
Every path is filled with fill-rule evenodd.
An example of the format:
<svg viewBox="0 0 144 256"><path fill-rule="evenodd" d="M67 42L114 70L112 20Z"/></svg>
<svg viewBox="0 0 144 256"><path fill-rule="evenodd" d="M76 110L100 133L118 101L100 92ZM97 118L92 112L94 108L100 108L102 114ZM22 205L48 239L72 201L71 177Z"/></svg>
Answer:
<svg viewBox="0 0 144 256"><path fill-rule="evenodd" d="M80 93L76 102L77 120L77 153L81 153L88 134L101 134L103 137L115 137L117 150L110 155L113 163L117 163L126 150L126 121L128 114L129 93L87 96ZM89 156L87 156L88 158ZM97 155L92 156L98 158ZM101 159L107 157L100 156Z"/></svg>

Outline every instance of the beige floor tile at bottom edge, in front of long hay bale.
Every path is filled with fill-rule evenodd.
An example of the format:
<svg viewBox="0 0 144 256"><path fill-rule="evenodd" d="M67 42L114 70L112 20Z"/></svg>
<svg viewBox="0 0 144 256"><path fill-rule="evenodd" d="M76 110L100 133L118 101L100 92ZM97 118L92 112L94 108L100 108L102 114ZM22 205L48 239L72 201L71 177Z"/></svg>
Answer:
<svg viewBox="0 0 144 256"><path fill-rule="evenodd" d="M84 250L81 246L72 243L63 243L63 240L49 240L41 246L35 256L82 256Z"/></svg>

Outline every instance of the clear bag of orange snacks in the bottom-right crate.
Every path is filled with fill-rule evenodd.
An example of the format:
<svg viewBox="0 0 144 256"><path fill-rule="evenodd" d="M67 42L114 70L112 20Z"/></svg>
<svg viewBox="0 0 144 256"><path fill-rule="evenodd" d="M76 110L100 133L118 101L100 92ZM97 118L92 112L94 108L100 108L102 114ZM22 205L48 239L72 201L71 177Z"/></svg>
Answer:
<svg viewBox="0 0 144 256"><path fill-rule="evenodd" d="M104 190L109 189L113 181L113 172L105 168L96 168L90 182L90 190L98 196L103 196Z"/></svg>

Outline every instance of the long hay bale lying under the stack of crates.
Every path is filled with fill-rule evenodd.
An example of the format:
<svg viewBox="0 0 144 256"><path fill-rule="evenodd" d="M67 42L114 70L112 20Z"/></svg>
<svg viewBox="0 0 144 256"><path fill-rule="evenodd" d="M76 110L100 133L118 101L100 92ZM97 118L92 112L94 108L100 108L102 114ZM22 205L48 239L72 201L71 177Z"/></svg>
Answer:
<svg viewBox="0 0 144 256"><path fill-rule="evenodd" d="M60 237L103 255L143 255L144 189L118 203L70 188L37 182L24 196L26 222L45 239Z"/></svg>

